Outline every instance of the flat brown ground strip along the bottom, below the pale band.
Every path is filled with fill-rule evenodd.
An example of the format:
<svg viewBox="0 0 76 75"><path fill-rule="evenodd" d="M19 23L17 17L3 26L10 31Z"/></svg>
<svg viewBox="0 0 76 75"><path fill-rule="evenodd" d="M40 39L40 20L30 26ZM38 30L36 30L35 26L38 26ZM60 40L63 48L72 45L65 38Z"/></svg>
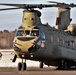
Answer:
<svg viewBox="0 0 76 75"><path fill-rule="evenodd" d="M76 75L76 70L55 70L54 68L29 67L27 71L18 71L16 67L0 67L0 75Z"/></svg>

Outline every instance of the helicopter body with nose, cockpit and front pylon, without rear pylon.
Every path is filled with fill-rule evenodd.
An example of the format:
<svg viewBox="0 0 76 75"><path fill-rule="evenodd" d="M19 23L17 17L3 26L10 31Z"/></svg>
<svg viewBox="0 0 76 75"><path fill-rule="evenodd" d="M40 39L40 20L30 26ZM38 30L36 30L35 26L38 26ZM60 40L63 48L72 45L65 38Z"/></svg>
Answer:
<svg viewBox="0 0 76 75"><path fill-rule="evenodd" d="M17 30L14 39L15 55L61 68L66 63L67 66L75 65L75 36L62 29L41 24L39 14L35 10L24 11L22 28ZM21 35L22 32L24 35Z"/></svg>

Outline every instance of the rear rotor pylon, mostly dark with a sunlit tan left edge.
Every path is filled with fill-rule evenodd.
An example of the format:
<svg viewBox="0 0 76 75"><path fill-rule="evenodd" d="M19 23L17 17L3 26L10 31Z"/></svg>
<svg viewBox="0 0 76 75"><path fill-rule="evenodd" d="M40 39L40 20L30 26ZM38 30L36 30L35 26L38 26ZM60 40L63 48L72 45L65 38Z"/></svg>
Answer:
<svg viewBox="0 0 76 75"><path fill-rule="evenodd" d="M70 8L58 8L56 15L56 29L66 30L68 25L70 25Z"/></svg>

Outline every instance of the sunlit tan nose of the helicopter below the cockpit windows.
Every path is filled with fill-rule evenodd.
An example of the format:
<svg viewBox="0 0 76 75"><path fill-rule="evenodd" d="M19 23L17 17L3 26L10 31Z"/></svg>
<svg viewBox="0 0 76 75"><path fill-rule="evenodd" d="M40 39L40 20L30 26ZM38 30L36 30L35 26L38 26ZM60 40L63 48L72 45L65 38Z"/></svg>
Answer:
<svg viewBox="0 0 76 75"><path fill-rule="evenodd" d="M38 38L35 38L35 37L15 38L14 50L18 52L20 51L28 52L28 49L31 48L35 44L35 41L37 39Z"/></svg>

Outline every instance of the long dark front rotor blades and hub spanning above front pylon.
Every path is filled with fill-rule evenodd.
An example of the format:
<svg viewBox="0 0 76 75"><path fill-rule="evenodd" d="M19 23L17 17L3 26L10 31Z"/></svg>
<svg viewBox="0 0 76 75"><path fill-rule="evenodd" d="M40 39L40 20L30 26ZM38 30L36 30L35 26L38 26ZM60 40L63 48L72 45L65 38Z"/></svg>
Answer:
<svg viewBox="0 0 76 75"><path fill-rule="evenodd" d="M56 7L55 4L4 4L0 3L0 5L6 5L6 6L15 6L15 7L20 7L23 9L31 9L31 8L45 8L45 7Z"/></svg>

